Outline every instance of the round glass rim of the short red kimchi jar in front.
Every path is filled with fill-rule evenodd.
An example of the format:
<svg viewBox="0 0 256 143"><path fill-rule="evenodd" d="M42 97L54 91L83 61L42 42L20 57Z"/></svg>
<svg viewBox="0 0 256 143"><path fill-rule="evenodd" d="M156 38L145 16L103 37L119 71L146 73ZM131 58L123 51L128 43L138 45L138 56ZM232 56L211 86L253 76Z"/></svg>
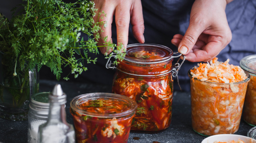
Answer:
<svg viewBox="0 0 256 143"><path fill-rule="evenodd" d="M102 113L93 113L93 112L88 112L84 109L81 109L78 107L78 103L82 103L84 101L87 100L92 100L92 99L113 99L113 100L118 100L121 101L123 103L128 103L129 104L129 109L124 111L124 112L120 112L120 113L112 113L112 114L102 114ZM133 100L132 98L129 98L127 96L124 95L120 95L120 94L115 94L115 93L87 93L87 94L82 94L82 95L78 95L75 98L73 98L70 102L70 108L72 110L74 110L75 112L85 115L85 116L91 116L91 117L97 117L97 118L119 118L119 117L125 117L128 115L131 115L132 113L135 114L135 111L137 109L137 103L135 100Z"/></svg>

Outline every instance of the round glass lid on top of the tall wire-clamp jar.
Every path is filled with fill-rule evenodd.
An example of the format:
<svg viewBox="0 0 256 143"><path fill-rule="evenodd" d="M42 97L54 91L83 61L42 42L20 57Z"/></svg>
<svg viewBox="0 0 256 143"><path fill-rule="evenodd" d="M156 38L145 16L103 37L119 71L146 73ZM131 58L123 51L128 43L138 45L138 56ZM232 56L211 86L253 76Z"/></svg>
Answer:
<svg viewBox="0 0 256 143"><path fill-rule="evenodd" d="M173 51L158 44L130 44L124 60L133 63L160 63L172 59Z"/></svg>

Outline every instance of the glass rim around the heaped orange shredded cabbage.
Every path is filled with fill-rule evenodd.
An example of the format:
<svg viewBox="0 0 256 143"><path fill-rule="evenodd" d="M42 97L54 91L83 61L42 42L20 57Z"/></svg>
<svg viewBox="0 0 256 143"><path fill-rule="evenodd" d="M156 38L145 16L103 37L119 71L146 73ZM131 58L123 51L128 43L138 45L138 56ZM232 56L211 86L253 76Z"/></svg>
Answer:
<svg viewBox="0 0 256 143"><path fill-rule="evenodd" d="M193 68L194 68L194 67L192 67L191 69L188 70L188 76L189 76L190 79L193 78L193 77L192 77L192 74L191 74L191 72L190 72ZM244 72L245 72L247 78L244 79L244 80L242 80L242 81L240 81L240 82L217 83L217 82L210 82L210 81L202 81L202 80L200 80L200 79L198 79L198 78L196 78L196 77L194 78L194 80L199 81L199 82L202 82L202 83L205 84L205 85L209 85L209 84L215 85L215 86L239 85L239 84L243 84L243 83L245 83L245 82L249 82L249 80L250 80L250 78L251 78L250 74L249 74L247 71L244 70Z"/></svg>

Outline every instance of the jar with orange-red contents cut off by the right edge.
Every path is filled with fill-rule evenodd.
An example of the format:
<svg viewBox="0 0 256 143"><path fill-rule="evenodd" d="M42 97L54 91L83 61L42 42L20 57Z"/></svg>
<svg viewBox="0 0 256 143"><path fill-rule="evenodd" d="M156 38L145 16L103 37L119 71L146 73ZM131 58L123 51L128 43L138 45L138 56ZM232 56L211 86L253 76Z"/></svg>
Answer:
<svg viewBox="0 0 256 143"><path fill-rule="evenodd" d="M249 125L256 126L256 55L242 58L240 66L251 76L245 95L243 119Z"/></svg>

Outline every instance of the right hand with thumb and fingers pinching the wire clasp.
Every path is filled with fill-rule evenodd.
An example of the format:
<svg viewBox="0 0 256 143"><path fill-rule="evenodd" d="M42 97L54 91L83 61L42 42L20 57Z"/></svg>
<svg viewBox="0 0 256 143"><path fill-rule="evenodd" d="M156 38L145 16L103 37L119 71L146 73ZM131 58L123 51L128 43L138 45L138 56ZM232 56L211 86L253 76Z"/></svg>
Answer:
<svg viewBox="0 0 256 143"><path fill-rule="evenodd" d="M191 62L209 61L231 41L232 34L225 14L225 0L196 0L184 36L171 40L178 51Z"/></svg>

